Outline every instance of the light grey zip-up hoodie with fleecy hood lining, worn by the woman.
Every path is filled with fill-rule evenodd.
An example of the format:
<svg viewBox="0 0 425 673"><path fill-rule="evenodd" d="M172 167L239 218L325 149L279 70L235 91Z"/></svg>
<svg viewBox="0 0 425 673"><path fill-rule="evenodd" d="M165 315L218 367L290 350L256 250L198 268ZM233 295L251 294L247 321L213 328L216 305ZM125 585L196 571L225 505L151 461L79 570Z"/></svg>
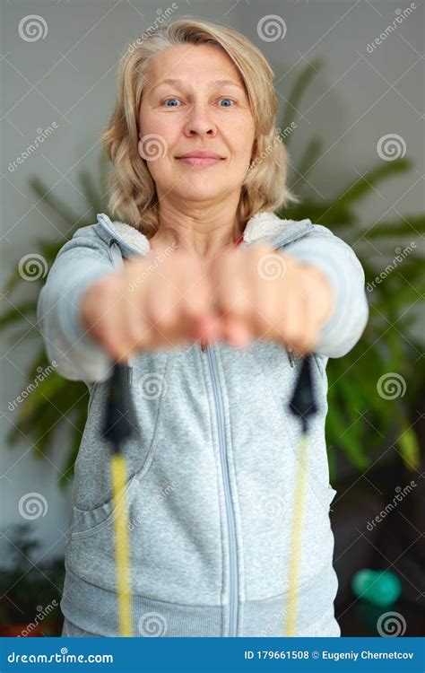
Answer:
<svg viewBox="0 0 425 673"><path fill-rule="evenodd" d="M75 464L61 608L74 625L113 636L117 581L109 447L101 438L109 355L79 317L82 293L97 278L149 253L149 240L105 214L82 227L56 256L39 294L48 358L90 390ZM369 307L364 273L343 240L310 220L263 212L241 247L258 240L315 265L329 278L335 308L321 332L313 385L297 602L297 633L333 614L337 578L325 445L326 363L358 342ZM244 349L220 341L160 348L131 358L133 437L124 441L134 635L282 636L299 419L288 405L300 361L276 342ZM320 635L320 634L319 634Z"/></svg>

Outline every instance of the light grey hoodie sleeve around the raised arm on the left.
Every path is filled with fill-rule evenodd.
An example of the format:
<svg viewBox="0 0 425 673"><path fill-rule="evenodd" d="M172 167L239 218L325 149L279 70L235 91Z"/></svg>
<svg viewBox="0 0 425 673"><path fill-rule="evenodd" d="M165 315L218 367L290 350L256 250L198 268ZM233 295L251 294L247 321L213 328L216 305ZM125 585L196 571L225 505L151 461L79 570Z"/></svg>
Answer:
<svg viewBox="0 0 425 673"><path fill-rule="evenodd" d="M65 379L108 379L112 360L82 325L82 294L114 272L108 246L94 226L81 227L59 250L37 303L37 321L48 360Z"/></svg>

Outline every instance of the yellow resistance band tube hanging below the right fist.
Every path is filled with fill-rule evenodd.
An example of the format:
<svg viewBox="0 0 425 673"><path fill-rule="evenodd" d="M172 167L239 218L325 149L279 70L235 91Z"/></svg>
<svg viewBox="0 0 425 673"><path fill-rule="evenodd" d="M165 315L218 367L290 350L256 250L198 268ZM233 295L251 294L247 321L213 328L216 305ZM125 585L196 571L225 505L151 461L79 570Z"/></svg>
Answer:
<svg viewBox="0 0 425 673"><path fill-rule="evenodd" d="M304 517L304 505L306 500L307 447L308 435L307 433L302 433L299 438L299 465L297 468L293 505L294 514L292 520L286 632L283 632L287 638L291 638L291 636L295 634L295 623L297 619L297 594L303 533L302 520Z"/></svg>

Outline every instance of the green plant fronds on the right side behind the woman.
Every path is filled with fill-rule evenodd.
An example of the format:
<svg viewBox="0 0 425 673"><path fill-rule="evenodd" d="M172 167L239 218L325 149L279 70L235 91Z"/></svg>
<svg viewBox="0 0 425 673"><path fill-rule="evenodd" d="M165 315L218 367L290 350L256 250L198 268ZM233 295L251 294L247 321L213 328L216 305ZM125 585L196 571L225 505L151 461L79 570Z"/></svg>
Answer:
<svg viewBox="0 0 425 673"><path fill-rule="evenodd" d="M295 83L283 114L284 126L291 125L294 110L306 90L311 77L320 67L316 60L306 67ZM291 144L292 135L285 140ZM324 224L356 249L365 271L369 293L369 323L359 343L343 358L330 359L327 367L329 412L326 419L326 438L331 475L334 474L335 452L343 450L351 463L359 470L368 468L374 451L383 441L393 440L407 468L418 468L420 446L415 431L419 419L418 395L424 383L423 345L411 335L409 328L415 320L412 307L423 299L423 256L409 252L400 266L393 264L383 282L373 285L374 280L386 268L372 264L370 243L379 246L385 259L394 260L396 253L406 250L406 241L420 239L425 231L425 214L404 214L395 221L379 221L371 227L362 226L354 212L361 198L385 179L394 178L412 168L407 159L391 162L381 160L376 168L343 189L329 201L314 200L308 193L308 174L314 169L323 152L320 138L312 138L296 170L296 193L302 198L300 204L277 213L281 217L302 220L308 217L313 223ZM306 197L302 197L302 192ZM311 191L311 190L310 190ZM402 255L403 257L403 255ZM386 262L388 264L388 262ZM389 262L391 265L392 262ZM386 384L380 378L389 376ZM401 377L401 378L400 378ZM377 387L384 395L378 394ZM399 387L403 394L395 395ZM405 391L403 392L403 389ZM393 390L394 389L394 390Z"/></svg>

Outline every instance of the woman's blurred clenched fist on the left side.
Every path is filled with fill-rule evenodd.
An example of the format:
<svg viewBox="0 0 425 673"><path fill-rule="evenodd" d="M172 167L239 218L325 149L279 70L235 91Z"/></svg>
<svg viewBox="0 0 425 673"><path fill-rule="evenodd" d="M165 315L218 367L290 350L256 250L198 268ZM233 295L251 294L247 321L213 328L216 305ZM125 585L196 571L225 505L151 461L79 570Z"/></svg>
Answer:
<svg viewBox="0 0 425 673"><path fill-rule="evenodd" d="M158 346L219 336L212 284L202 258L175 250L126 260L119 271L91 284L82 296L82 324L117 362Z"/></svg>

